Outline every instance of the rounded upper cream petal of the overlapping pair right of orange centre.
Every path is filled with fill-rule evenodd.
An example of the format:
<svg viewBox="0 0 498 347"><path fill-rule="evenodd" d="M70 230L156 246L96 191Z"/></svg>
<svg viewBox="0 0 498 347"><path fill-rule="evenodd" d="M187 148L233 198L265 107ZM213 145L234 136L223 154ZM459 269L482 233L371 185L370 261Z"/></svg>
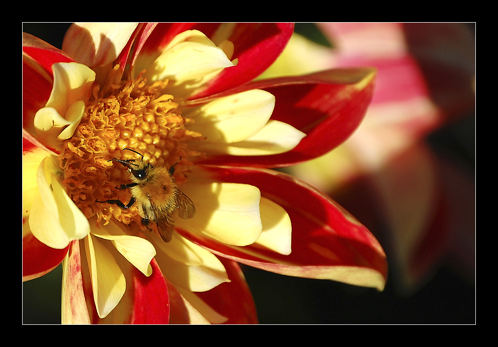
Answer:
<svg viewBox="0 0 498 347"><path fill-rule="evenodd" d="M186 109L184 116L194 120L189 129L206 138L202 144L226 144L255 136L267 124L274 107L272 94L254 89Z"/></svg>

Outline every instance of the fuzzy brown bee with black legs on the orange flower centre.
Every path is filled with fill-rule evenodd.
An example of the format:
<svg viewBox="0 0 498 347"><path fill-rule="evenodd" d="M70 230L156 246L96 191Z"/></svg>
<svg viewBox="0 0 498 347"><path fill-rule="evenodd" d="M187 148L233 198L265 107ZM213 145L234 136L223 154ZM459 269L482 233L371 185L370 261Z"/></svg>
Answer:
<svg viewBox="0 0 498 347"><path fill-rule="evenodd" d="M140 159L110 159L125 166L130 172L132 183L122 184L117 189L129 189L131 199L128 204L120 200L98 201L99 203L115 204L123 209L129 209L137 204L138 213L142 217L142 225L150 229L149 223L155 222L159 235L164 242L170 242L173 237L175 219L173 214L178 210L178 216L189 219L195 216L195 206L175 184L173 173L175 165L169 169L164 166L154 166L144 160L139 152L124 148L140 155Z"/></svg>

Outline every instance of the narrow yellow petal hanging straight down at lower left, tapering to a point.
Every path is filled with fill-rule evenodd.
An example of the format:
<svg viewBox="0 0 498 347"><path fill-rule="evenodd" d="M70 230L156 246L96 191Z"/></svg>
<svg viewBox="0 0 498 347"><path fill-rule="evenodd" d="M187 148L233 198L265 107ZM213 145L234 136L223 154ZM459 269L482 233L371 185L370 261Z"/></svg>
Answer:
<svg viewBox="0 0 498 347"><path fill-rule="evenodd" d="M116 307L126 290L124 274L103 242L106 241L92 234L85 238L95 306L101 318Z"/></svg>

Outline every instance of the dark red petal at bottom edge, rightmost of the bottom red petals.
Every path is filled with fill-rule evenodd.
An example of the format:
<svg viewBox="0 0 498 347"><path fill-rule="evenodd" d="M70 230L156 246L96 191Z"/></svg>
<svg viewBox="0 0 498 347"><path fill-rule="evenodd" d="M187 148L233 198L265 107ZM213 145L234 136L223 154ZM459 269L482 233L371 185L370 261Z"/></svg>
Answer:
<svg viewBox="0 0 498 347"><path fill-rule="evenodd" d="M228 318L225 324L257 324L258 315L253 295L245 282L245 277L236 262L221 258L228 278L215 288L196 293L216 312Z"/></svg>

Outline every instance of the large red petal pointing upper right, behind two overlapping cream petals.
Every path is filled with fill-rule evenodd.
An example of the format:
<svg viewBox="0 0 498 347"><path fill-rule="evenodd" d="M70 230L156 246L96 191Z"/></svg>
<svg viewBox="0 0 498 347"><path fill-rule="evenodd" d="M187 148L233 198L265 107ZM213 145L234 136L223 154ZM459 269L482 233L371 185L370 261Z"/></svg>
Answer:
<svg viewBox="0 0 498 347"><path fill-rule="evenodd" d="M216 156L206 164L278 167L323 155L344 142L363 120L374 91L371 68L332 69L298 77L248 83L242 90L263 89L276 97L272 119L294 126L306 137L291 151L266 156Z"/></svg>

